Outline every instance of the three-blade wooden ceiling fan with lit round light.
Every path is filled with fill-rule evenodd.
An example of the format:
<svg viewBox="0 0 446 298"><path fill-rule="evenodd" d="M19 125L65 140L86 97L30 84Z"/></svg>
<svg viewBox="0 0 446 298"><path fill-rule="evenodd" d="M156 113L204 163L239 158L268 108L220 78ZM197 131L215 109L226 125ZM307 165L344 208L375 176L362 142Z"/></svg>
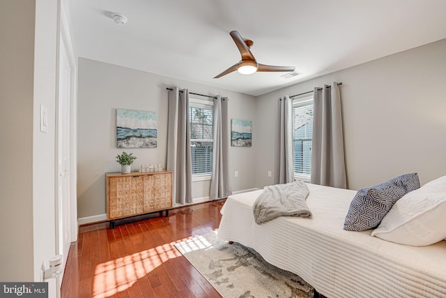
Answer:
<svg viewBox="0 0 446 298"><path fill-rule="evenodd" d="M229 34L236 43L238 50L242 55L242 59L230 68L224 70L224 72L216 75L214 79L222 77L223 75L227 75L228 73L232 73L236 70L243 75L250 75L252 73L255 73L256 71L294 71L294 66L272 66L257 63L254 55L249 50L254 42L252 40L242 38L238 31L231 31Z"/></svg>

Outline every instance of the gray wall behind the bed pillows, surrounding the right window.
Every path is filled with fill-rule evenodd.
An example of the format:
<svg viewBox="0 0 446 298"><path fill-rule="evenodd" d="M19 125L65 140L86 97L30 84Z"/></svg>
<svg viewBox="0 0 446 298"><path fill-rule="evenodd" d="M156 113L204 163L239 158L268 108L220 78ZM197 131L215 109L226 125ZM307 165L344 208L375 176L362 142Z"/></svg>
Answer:
<svg viewBox="0 0 446 298"><path fill-rule="evenodd" d="M446 40L440 40L259 96L256 186L272 184L275 100L333 81L343 83L348 188L406 172L418 172L422 184L446 174Z"/></svg>

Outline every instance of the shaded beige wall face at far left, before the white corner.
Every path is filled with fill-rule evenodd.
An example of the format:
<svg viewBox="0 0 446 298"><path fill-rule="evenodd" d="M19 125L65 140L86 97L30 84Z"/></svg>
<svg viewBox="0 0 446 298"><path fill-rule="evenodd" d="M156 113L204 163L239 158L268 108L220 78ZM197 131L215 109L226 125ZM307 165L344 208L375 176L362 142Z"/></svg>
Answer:
<svg viewBox="0 0 446 298"><path fill-rule="evenodd" d="M35 6L34 1L0 2L0 10L8 12L0 18L0 36L6 40L0 47L1 281L33 280Z"/></svg>

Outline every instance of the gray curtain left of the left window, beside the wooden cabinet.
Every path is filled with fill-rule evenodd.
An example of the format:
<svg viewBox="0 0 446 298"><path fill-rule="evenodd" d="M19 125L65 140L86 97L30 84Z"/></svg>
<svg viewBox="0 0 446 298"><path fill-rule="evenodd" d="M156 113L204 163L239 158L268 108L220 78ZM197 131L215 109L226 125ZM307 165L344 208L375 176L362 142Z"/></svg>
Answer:
<svg viewBox="0 0 446 298"><path fill-rule="evenodd" d="M174 200L192 203L192 163L190 157L189 91L178 87L169 92L167 170L174 172Z"/></svg>

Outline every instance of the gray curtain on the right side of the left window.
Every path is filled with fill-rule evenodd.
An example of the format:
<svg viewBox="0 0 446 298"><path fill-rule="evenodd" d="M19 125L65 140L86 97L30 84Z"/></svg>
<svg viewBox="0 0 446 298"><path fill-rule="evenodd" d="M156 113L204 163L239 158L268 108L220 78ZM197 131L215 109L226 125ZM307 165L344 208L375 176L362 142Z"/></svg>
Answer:
<svg viewBox="0 0 446 298"><path fill-rule="evenodd" d="M217 96L214 100L213 168L210 180L210 200L232 194L229 179L229 120L228 99Z"/></svg>

